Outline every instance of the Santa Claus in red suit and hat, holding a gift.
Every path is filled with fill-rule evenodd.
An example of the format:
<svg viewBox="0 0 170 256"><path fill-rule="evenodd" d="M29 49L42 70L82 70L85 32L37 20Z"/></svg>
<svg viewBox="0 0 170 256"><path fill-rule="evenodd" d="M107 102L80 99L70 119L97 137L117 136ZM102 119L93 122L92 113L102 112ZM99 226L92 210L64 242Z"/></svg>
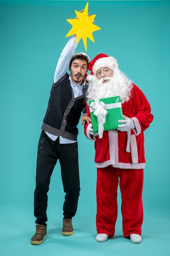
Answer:
<svg viewBox="0 0 170 256"><path fill-rule="evenodd" d="M115 234L117 220L117 188L121 191L123 234L132 243L141 243L143 222L142 190L144 180L144 130L153 120L150 104L144 93L118 69L115 58L98 54L89 64L87 76L88 101L120 96L123 120L117 130L104 131L102 138L93 132L92 124L84 124L88 139L95 141L97 167L97 215L98 242L105 242ZM83 117L82 117L83 121Z"/></svg>

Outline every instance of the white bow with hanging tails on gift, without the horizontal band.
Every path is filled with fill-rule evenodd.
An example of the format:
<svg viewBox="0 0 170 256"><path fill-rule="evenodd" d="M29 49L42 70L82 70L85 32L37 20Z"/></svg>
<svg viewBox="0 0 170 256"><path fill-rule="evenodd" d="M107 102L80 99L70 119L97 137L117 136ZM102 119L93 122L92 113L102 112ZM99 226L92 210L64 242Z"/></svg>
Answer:
<svg viewBox="0 0 170 256"><path fill-rule="evenodd" d="M93 115L97 117L97 122L99 126L98 134L99 139L103 137L103 124L106 122L106 115L108 111L106 110L106 104L103 101L99 101L99 99L96 99L95 102L91 102L90 107L92 111L94 111Z"/></svg>

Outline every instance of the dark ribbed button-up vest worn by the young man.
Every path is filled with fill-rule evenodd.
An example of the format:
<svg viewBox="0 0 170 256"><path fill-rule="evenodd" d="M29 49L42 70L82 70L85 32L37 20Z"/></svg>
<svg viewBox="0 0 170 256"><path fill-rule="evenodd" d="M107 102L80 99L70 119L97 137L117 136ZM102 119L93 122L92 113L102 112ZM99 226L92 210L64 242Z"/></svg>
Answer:
<svg viewBox="0 0 170 256"><path fill-rule="evenodd" d="M68 78L69 75L66 73L57 83L53 84L41 128L53 135L77 140L77 124L82 109L86 106L84 94L87 84L85 84L82 96L74 98Z"/></svg>

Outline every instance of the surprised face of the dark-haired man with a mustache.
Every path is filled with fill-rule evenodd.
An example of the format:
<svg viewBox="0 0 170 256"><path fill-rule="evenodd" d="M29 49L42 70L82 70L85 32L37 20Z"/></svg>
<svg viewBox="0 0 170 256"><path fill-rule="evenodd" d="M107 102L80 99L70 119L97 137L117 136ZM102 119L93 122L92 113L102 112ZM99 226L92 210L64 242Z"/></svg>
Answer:
<svg viewBox="0 0 170 256"><path fill-rule="evenodd" d="M71 72L71 80L78 85L82 85L84 76L87 73L87 62L76 59L71 63L69 70Z"/></svg>

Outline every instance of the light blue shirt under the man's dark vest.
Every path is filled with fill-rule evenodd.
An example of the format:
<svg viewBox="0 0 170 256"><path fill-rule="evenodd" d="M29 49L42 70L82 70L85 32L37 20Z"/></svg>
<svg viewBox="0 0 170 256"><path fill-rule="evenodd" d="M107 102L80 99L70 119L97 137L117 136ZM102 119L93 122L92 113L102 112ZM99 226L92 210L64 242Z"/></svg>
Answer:
<svg viewBox="0 0 170 256"><path fill-rule="evenodd" d="M54 74L54 83L57 83L60 80L60 78L62 78L62 76L64 76L66 74L68 66L70 64L71 58L75 52L76 47L77 47L76 37L72 36L70 38L70 40L68 41L68 43L66 44L66 46L64 47L64 49L62 50L62 53L58 60L57 67L55 69L55 74ZM83 89L84 89L86 80L84 79L84 82L82 85L77 85L76 83L73 83L70 76L69 76L69 80L70 80L71 88L73 89L74 97L77 98L77 97L81 96L83 94ZM46 134L53 141L55 141L58 137L56 135L50 134L49 132L46 132ZM60 144L68 144L68 143L76 142L71 139L65 139L62 136L59 136L59 137L60 137Z"/></svg>

